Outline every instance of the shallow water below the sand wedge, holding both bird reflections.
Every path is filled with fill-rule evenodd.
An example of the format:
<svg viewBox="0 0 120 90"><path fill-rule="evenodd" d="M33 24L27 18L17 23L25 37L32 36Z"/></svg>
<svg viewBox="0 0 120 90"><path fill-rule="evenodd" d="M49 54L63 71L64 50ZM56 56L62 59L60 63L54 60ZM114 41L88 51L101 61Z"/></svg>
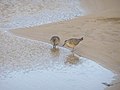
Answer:
<svg viewBox="0 0 120 90"><path fill-rule="evenodd" d="M70 50L0 31L2 90L104 90L115 74ZM6 48L6 49L5 49Z"/></svg>

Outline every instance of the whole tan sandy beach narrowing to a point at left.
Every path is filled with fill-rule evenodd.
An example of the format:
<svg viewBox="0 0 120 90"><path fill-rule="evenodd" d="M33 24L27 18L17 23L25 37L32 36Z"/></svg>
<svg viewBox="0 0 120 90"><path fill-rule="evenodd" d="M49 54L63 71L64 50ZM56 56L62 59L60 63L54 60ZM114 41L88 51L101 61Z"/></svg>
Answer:
<svg viewBox="0 0 120 90"><path fill-rule="evenodd" d="M34 27L12 29L8 32L46 43L50 43L50 38L57 35L61 39L59 47L62 47L64 41L69 38L83 37L84 40L75 47L75 53L111 70L116 74L113 83L120 82L120 1L95 0L96 4L88 1L89 5L84 0L80 3L87 12L84 16ZM120 83L107 87L106 90L119 90L119 88Z"/></svg>

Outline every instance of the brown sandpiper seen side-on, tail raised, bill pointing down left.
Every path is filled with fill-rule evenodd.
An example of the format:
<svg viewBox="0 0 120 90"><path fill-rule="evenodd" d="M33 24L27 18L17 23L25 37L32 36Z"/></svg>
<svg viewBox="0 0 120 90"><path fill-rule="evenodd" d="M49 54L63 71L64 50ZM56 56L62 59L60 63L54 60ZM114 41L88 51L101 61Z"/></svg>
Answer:
<svg viewBox="0 0 120 90"><path fill-rule="evenodd" d="M74 51L74 48L75 46L77 46L79 44L80 41L83 40L83 37L80 38L80 39L77 39L77 38L71 38L71 39L68 39L68 40L65 40L63 46L68 46L70 48L72 48L72 52Z"/></svg>

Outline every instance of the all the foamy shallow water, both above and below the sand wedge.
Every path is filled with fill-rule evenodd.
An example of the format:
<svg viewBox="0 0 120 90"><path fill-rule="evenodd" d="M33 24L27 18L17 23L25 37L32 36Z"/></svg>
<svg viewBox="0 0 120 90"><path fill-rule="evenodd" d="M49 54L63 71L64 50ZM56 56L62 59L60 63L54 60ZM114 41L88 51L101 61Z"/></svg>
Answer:
<svg viewBox="0 0 120 90"><path fill-rule="evenodd" d="M114 80L113 72L68 49L4 32L83 15L79 0L0 0L0 12L0 89L104 90L102 83Z"/></svg>

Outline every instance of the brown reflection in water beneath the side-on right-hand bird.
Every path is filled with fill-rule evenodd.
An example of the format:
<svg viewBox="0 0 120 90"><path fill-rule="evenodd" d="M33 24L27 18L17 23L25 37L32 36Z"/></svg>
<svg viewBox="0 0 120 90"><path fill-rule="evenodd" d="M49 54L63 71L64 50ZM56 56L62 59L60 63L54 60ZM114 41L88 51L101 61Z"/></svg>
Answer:
<svg viewBox="0 0 120 90"><path fill-rule="evenodd" d="M75 56L74 53L66 57L65 64L76 65L79 63L79 57Z"/></svg>

